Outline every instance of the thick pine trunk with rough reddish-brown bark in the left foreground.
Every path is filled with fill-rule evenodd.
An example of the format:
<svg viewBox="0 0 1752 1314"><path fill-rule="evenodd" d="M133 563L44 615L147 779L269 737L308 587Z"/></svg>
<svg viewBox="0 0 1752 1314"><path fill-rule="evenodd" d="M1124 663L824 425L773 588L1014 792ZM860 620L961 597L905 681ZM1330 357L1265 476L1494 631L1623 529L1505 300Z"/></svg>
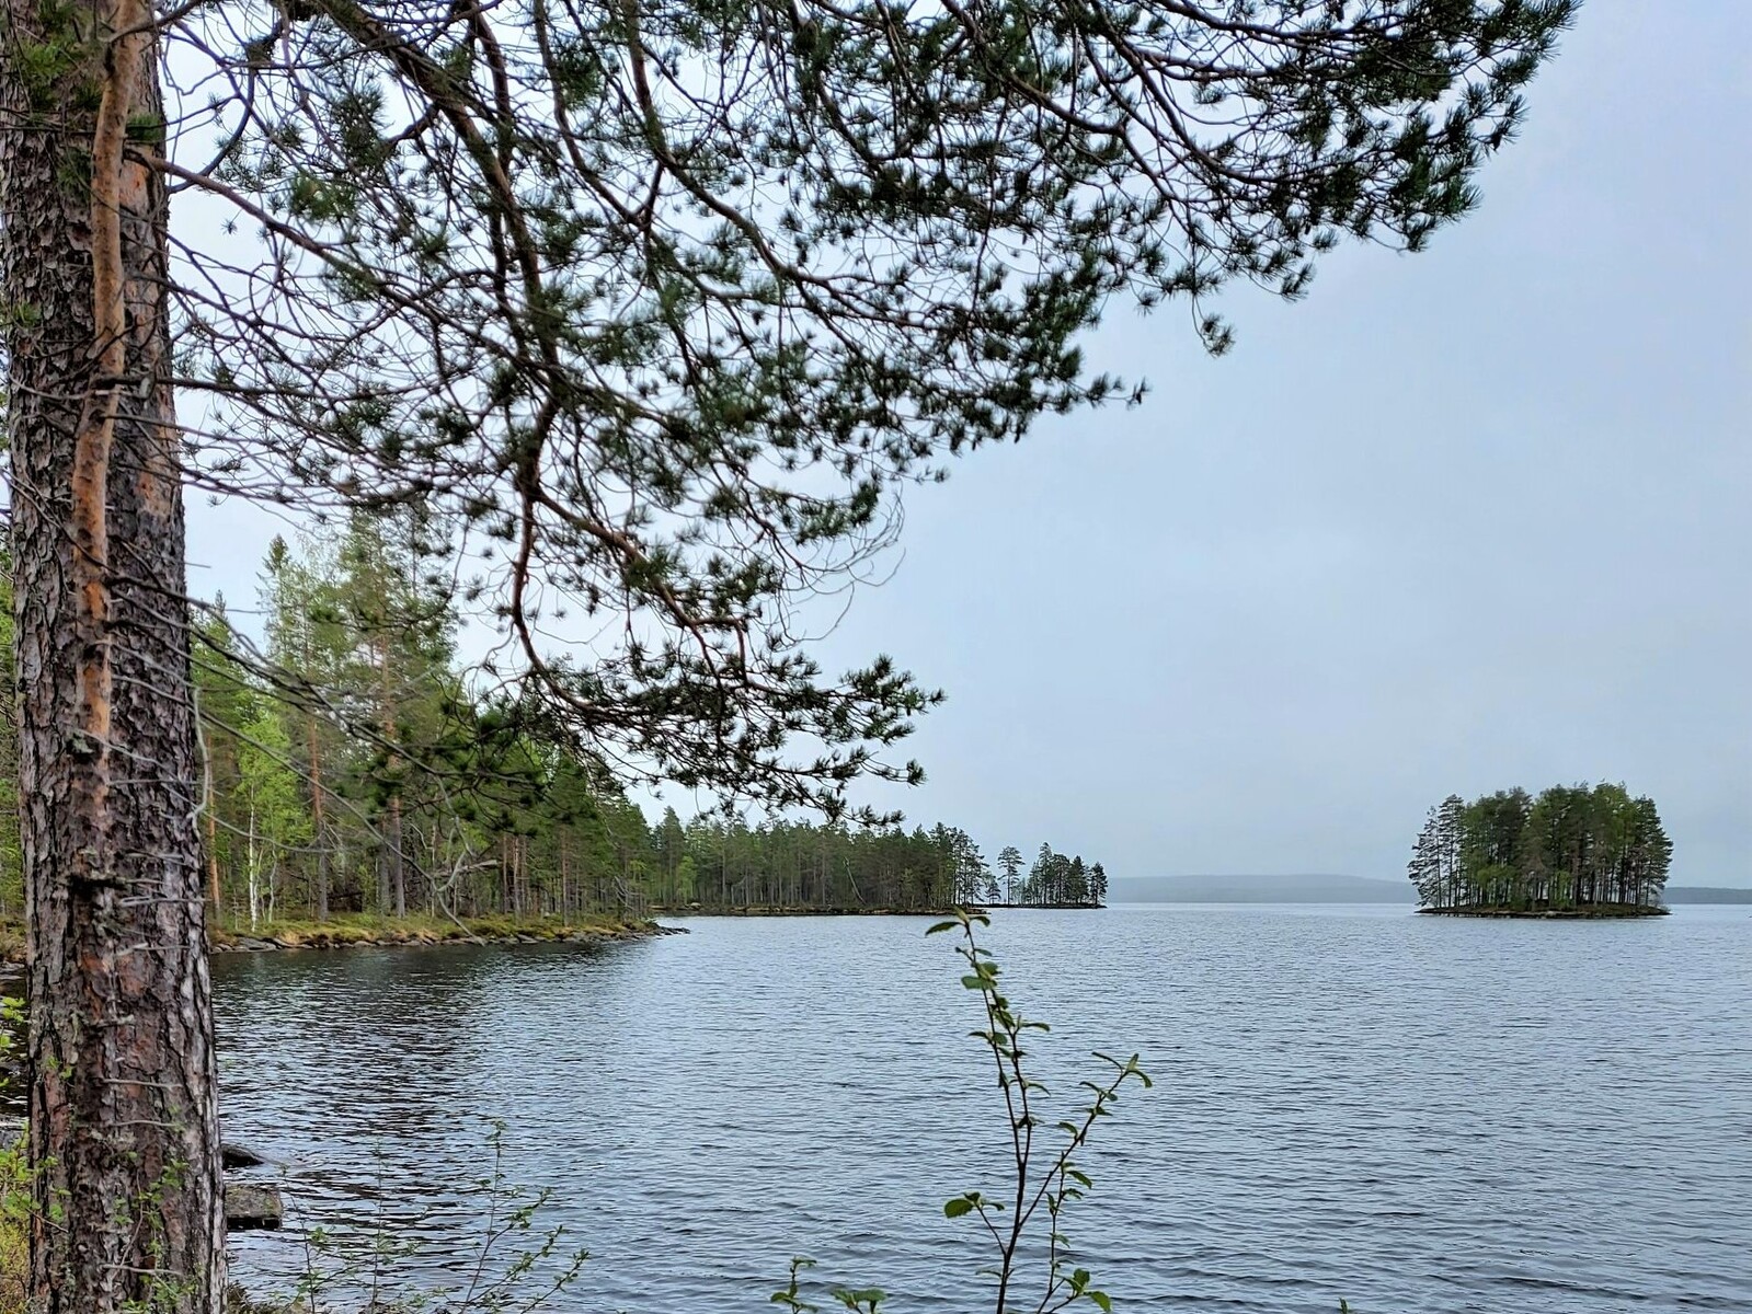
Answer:
<svg viewBox="0 0 1752 1314"><path fill-rule="evenodd" d="M33 1314L212 1314L219 1134L140 0L0 0ZM121 33L121 35L117 35Z"/></svg>

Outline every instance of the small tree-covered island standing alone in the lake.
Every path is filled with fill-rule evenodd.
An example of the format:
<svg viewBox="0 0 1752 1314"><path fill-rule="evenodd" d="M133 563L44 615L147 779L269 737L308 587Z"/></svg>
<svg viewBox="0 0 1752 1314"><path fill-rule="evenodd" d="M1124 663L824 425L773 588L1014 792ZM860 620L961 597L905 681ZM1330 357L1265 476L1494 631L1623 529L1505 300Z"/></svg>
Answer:
<svg viewBox="0 0 1752 1314"><path fill-rule="evenodd" d="M1417 911L1456 916L1659 916L1673 841L1654 799L1622 785L1451 794L1430 809L1409 874Z"/></svg>

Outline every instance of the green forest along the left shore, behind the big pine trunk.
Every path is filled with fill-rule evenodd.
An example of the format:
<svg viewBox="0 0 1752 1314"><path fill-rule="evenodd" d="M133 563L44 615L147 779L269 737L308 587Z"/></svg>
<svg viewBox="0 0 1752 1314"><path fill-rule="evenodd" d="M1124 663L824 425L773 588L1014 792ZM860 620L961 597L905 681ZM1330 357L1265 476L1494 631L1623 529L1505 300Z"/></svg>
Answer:
<svg viewBox="0 0 1752 1314"><path fill-rule="evenodd" d="M993 865L941 823L750 825L724 811L683 822L675 808L650 822L601 755L470 689L456 590L427 569L405 513L356 513L296 550L275 540L261 578L251 627L265 648L223 601L194 622L203 862L224 929L1106 899L1099 862L1041 844L1032 864L1006 846ZM11 662L11 636L0 638ZM11 696L0 720L11 801ZM5 808L0 918L21 906L18 815Z"/></svg>

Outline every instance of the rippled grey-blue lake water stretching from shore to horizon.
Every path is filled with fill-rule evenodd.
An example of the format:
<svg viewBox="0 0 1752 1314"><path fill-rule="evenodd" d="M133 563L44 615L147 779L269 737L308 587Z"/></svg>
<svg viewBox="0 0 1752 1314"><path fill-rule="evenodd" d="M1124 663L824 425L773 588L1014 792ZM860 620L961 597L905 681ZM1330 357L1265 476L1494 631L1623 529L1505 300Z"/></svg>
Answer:
<svg viewBox="0 0 1752 1314"><path fill-rule="evenodd" d="M471 1263L510 1181L592 1260L564 1310L771 1309L792 1254L894 1310L979 1309L1002 1183L978 999L913 918L692 918L606 948L230 955L230 1137L293 1230ZM1156 1077L1084 1156L1079 1261L1127 1309L1752 1310L1752 909L1451 922L1388 908L997 913L1013 999ZM424 1267L420 1267L424 1265ZM988 1305L986 1305L988 1309Z"/></svg>

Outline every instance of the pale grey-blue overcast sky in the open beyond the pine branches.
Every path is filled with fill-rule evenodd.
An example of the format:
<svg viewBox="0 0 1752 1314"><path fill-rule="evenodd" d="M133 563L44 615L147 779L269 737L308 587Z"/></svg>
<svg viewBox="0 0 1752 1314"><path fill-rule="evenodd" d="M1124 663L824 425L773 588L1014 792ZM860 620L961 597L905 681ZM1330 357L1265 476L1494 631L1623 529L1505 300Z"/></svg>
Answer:
<svg viewBox="0 0 1752 1314"><path fill-rule="evenodd" d="M1743 23L1591 0L1475 215L1230 293L1223 359L1116 305L1088 357L1146 401L909 494L822 643L948 692L927 783L862 797L1116 876L1396 878L1451 792L1619 780L1675 883L1752 885ZM194 592L252 597L279 526L189 519Z"/></svg>

